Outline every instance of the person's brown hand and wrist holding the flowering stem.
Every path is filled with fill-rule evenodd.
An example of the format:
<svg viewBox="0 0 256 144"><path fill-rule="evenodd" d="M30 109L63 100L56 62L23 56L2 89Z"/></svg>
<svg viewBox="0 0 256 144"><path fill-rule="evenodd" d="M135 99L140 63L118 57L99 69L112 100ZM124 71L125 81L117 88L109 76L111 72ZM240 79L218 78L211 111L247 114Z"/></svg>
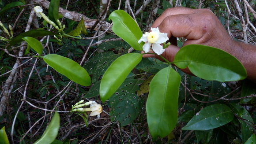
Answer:
<svg viewBox="0 0 256 144"><path fill-rule="evenodd" d="M186 7L169 8L156 19L152 27L158 27L161 33L168 33L171 44L177 44L176 37L184 37L187 41L183 46L203 44L230 53L245 66L248 78L256 81L256 46L233 41L211 10ZM162 56L173 62L179 49L176 45L170 45ZM146 54L143 57L155 57L162 60L158 55ZM182 70L191 74L188 68Z"/></svg>

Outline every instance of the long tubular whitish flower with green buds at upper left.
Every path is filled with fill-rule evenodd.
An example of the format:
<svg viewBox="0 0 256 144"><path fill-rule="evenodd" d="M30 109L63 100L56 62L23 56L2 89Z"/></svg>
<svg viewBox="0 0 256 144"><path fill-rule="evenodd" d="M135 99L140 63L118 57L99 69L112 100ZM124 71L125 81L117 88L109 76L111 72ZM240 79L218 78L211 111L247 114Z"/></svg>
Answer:
<svg viewBox="0 0 256 144"><path fill-rule="evenodd" d="M44 18L44 20L46 22L48 22L50 25L52 25L55 29L57 29L58 31L63 31L65 29L65 25L62 26L62 24L60 23L59 20L57 20L57 25L56 23L54 23L53 21L51 21L44 13L43 13L43 9L40 7L40 6L35 6L34 7L34 11L36 13L36 15L39 17L39 18Z"/></svg>

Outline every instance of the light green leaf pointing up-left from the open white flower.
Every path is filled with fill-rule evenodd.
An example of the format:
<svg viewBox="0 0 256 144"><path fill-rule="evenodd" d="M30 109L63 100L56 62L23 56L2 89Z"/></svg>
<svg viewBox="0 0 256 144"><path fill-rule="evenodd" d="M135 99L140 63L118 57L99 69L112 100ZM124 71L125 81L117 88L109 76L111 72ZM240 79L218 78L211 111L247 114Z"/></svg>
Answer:
<svg viewBox="0 0 256 144"><path fill-rule="evenodd" d="M113 11L109 15L109 20L113 21L112 30L134 49L142 51L143 43L138 41L142 37L142 32L137 23L123 10Z"/></svg>

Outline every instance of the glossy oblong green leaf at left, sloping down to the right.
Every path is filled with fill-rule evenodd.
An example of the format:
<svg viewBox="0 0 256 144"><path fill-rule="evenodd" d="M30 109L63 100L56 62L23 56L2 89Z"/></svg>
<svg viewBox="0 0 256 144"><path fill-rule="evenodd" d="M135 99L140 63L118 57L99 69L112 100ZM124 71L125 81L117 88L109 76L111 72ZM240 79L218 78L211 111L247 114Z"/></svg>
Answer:
<svg viewBox="0 0 256 144"><path fill-rule="evenodd" d="M87 71L72 59L68 59L61 55L49 54L42 57L49 66L54 70L63 74L70 80L79 85L91 85L90 76Z"/></svg>

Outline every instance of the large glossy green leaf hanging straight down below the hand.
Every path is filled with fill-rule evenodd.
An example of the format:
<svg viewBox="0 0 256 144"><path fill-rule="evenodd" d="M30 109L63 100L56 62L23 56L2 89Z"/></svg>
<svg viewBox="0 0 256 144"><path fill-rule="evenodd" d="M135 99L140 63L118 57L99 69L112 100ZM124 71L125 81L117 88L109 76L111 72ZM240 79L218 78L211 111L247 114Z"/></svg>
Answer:
<svg viewBox="0 0 256 144"><path fill-rule="evenodd" d="M153 138L166 137L177 123L180 83L181 76L171 67L160 70L150 82L146 111Z"/></svg>

